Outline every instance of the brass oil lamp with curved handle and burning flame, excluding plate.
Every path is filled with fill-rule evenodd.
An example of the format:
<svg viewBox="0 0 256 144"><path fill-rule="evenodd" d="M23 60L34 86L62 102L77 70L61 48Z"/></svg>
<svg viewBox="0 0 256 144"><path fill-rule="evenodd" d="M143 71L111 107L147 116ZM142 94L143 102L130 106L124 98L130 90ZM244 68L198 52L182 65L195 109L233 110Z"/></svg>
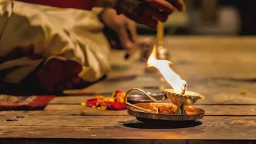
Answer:
<svg viewBox="0 0 256 144"><path fill-rule="evenodd" d="M135 107L141 111L145 111L151 113L148 109L141 108L137 105L133 105L127 101L127 97L132 91L140 91L143 95L149 97L149 99L153 100L156 103L163 103L165 100L169 99L171 103L178 107L176 114L184 115L186 114L185 107L193 105L198 99L201 99L202 96L199 93L195 93L193 91L187 91L187 83L179 75L177 75L171 67L170 61L164 59L157 59L157 46L153 47L151 51L151 55L149 55L149 59L147 60L147 67L155 67L157 68L161 74L163 75L164 79L173 87L173 89L165 89L163 91L163 99L156 100L147 92L143 91L142 89L133 88L127 91L125 95L125 103L130 105L131 107Z"/></svg>

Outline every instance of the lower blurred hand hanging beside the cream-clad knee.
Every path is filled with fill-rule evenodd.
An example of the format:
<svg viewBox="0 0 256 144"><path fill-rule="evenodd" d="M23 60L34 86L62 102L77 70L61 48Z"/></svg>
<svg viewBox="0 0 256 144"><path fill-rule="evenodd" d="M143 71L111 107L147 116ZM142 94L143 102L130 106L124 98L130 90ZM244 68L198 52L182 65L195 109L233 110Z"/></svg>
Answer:
<svg viewBox="0 0 256 144"><path fill-rule="evenodd" d="M125 15L117 15L115 9L105 9L100 17L107 27L117 33L127 53L133 54L138 48L135 23Z"/></svg>

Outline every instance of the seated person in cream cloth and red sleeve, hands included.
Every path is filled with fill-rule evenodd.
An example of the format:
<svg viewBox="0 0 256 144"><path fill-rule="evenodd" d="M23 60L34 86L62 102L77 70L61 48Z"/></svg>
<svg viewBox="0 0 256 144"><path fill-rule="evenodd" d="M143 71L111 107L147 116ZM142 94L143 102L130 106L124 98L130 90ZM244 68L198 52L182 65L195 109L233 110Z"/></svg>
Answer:
<svg viewBox="0 0 256 144"><path fill-rule="evenodd" d="M117 32L129 53L137 47L133 23L116 10L155 27L157 19L167 19L173 5L185 9L181 0L173 0L173 5L165 0L21 1L0 0L0 91L10 86L57 92L93 83L109 71L109 43L103 25ZM116 10L83 10L94 5ZM63 9L67 7L77 9Z"/></svg>

